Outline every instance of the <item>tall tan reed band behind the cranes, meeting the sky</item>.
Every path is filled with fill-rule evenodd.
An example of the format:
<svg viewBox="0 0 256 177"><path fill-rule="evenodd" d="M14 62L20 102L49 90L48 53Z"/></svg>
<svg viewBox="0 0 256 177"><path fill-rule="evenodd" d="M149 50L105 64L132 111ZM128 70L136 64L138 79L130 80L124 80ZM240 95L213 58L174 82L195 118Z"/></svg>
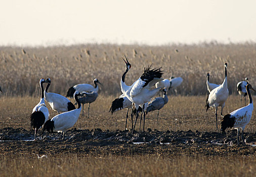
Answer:
<svg viewBox="0 0 256 177"><path fill-rule="evenodd" d="M125 69L121 57L126 55L132 64L126 76L127 84L152 63L152 67L162 67L164 78L184 78L178 93L205 95L206 73L211 75L210 82L221 83L224 63L228 62L229 91L236 93L236 83L243 78L248 77L252 86L255 83L255 47L255 43L222 45L216 42L155 47L93 44L24 49L0 47L0 85L6 95L38 96L39 79L50 77L50 90L65 95L70 86L92 84L97 77L104 84L102 94L117 96Z"/></svg>

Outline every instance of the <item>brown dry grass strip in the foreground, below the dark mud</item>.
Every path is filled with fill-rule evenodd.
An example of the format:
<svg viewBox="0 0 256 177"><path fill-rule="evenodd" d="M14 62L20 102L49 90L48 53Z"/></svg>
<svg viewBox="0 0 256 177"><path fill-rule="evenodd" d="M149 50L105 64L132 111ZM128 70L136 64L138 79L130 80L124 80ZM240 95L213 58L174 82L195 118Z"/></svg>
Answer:
<svg viewBox="0 0 256 177"><path fill-rule="evenodd" d="M0 156L1 176L254 176L254 157Z"/></svg>

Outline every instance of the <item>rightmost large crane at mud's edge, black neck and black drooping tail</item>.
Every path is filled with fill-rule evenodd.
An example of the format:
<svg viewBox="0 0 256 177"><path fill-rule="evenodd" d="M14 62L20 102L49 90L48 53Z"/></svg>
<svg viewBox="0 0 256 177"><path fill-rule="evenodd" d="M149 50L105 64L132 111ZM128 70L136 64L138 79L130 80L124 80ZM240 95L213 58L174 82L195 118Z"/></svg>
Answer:
<svg viewBox="0 0 256 177"><path fill-rule="evenodd" d="M242 140L243 140L243 130L245 126L250 122L252 111L253 111L253 103L250 95L250 89L256 92L250 84L247 84L246 91L249 98L249 104L245 107L237 109L230 114L224 116L223 121L221 123L221 131L225 132L227 127L237 129L237 144L239 144L238 134L239 130L242 130ZM243 140L244 141L244 140Z"/></svg>

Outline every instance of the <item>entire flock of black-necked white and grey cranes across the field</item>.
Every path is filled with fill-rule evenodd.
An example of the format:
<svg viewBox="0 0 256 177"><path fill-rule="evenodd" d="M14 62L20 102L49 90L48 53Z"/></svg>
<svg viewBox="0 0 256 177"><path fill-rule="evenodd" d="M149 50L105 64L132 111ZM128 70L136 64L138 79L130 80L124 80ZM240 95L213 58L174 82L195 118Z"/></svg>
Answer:
<svg viewBox="0 0 256 177"><path fill-rule="evenodd" d="M126 121L125 121L125 129L127 129L127 119L129 117L129 110L131 109L131 120L132 120L132 134L134 133L136 122L139 117L139 112L141 112L141 120L140 120L140 129L141 129L141 121L142 114L144 115L143 121L143 132L145 128L145 117L151 111L157 110L157 122L159 116L159 110L164 107L168 102L168 98L166 95L166 91L170 89L175 89L179 86L183 78L181 77L170 77L170 79L163 79L163 70L160 68L151 68L151 65L144 68L144 72L142 75L134 81L132 85L125 84L125 76L127 72L131 69L132 65L127 60L126 56L125 60L125 71L123 72L120 79L120 87L122 95L119 98L116 98L112 103L109 112L113 114L119 110L124 108L127 109L126 112ZM227 74L227 63L225 63L225 75L222 84L215 84L209 82L209 73L207 73L206 86L209 95L206 99L206 112L208 109L215 108L216 115L216 128L218 130L218 107L221 107L221 115L223 116L223 108L225 107L225 102L229 95L228 90L228 74ZM44 83L47 83L46 89L44 91ZM61 132L62 139L65 138L65 132L67 129L71 128L76 121L81 112L81 104L82 104L82 116L83 116L83 105L89 103L88 106L88 118L90 111L90 104L94 102L98 97L99 84L100 81L95 78L93 80L94 86L87 83L81 83L74 86L71 86L66 94L66 97L73 97L75 100L75 105L78 107L75 108L75 105L66 97L56 94L49 93L48 89L51 85L51 79L41 78L39 81L40 89L41 89L41 97L39 103L33 108L32 114L30 115L30 126L31 131L34 129L34 140L36 139L36 134L38 129L41 129L41 139L43 139L44 131L48 132L58 131ZM155 89L152 87L155 86ZM247 77L244 81L240 81L237 83L237 91L240 95L240 100L242 100L242 96L244 96L244 100L246 95L248 96L249 104L240 109L237 109L230 114L226 114L223 117L221 122L221 131L225 134L226 128L235 128L237 129L237 144L239 144L239 131L242 131L242 142L244 143L243 130L245 126L249 123L253 111L253 103L252 97L250 94L250 90L256 92L251 84L248 83ZM3 93L0 87L0 91ZM163 97L154 96L157 93L163 92ZM52 119L49 119L49 110L45 104L45 100L49 103L51 108L58 112L58 115L54 116ZM136 115L135 122L133 123L133 116Z"/></svg>

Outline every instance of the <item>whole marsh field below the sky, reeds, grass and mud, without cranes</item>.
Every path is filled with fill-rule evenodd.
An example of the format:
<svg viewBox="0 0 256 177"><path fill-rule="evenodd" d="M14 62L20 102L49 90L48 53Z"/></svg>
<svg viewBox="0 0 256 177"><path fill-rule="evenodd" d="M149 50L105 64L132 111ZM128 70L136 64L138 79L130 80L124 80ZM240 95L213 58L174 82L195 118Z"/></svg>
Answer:
<svg viewBox="0 0 256 177"><path fill-rule="evenodd" d="M220 133L220 109L216 130L215 110L206 113L204 105L206 73L211 74L210 82L221 83L224 63L228 62L230 96L223 113L244 106L235 86L248 77L256 87L255 47L254 43L0 47L0 85L4 91L0 93L0 176L254 176L255 109L244 131L246 145L237 145L236 130ZM132 64L127 84L151 63L163 67L164 78L184 79L178 94L168 94L169 102L160 110L159 122L157 111L150 112L145 132L139 131L138 121L133 135L130 116L128 130L124 130L126 109L109 113L111 102L121 94L124 54ZM42 77L52 79L50 92L62 95L74 84L92 84L96 77L104 85L90 106L90 118L85 105L84 117L80 115L64 140L59 139L58 132L45 132L43 140L38 134L32 141L29 116L39 101L38 81ZM252 99L255 101L255 94ZM49 118L57 115L46 104Z"/></svg>

